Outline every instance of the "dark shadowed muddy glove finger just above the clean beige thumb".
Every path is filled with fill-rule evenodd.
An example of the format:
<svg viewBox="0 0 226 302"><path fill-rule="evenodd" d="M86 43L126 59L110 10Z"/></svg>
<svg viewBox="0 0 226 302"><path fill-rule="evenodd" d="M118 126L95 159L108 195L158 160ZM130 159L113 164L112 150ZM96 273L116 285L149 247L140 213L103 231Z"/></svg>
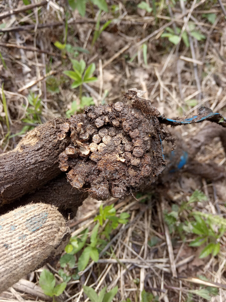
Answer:
<svg viewBox="0 0 226 302"><path fill-rule="evenodd" d="M78 207L82 205L83 200L87 197L87 192L81 192L76 188L72 188L65 173L62 173L41 188L37 188L34 193L25 194L22 198L10 204L4 204L2 207L0 205L0 213L5 214L10 210L31 202L43 202L58 207L58 210L65 218L68 218L70 214L70 219L72 219Z"/></svg>

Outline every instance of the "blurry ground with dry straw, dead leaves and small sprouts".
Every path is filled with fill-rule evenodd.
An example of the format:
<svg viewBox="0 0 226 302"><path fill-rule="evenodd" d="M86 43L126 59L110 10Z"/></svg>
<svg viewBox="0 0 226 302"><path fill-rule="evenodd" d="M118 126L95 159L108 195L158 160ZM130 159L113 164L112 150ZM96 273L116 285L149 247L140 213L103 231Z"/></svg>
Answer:
<svg viewBox="0 0 226 302"><path fill-rule="evenodd" d="M0 3L2 153L13 149L37 124L54 116L70 117L92 104L121 101L129 88L147 91L144 97L170 118L195 114L201 106L226 115L226 2L107 1L106 7L104 1L91 0L86 7L80 1L83 9L78 11L74 1L69 1L71 8L66 0L50 0L22 9L30 3L38 2ZM1 17L13 8L21 10ZM81 73L95 63L96 68L90 67L91 79L82 83L73 75L71 80L65 71L77 66L73 60L84 60L85 65L80 61L84 65ZM176 150L186 150L208 125L165 128L177 138ZM170 148L171 144L164 143L168 163ZM225 153L218 137L203 143L193 156L198 163L215 164L225 171ZM226 301L225 179L213 181L192 171L169 170L142 192L102 202L104 206L114 203L116 215L129 213L129 221L112 230L108 253L97 263L90 262L80 273L80 281L68 281L56 299L88 301L82 288L85 284L97 292L118 285L114 301L140 301L143 289L165 302ZM83 203L70 221L72 236L86 227L92 232L100 204L92 198ZM202 226L197 217L204 219ZM198 224L204 233L194 231ZM212 233L205 233L205 228ZM208 237L207 242L215 247L210 246L203 258L199 257L207 243L190 245L197 234ZM62 282L60 263L54 265L45 268ZM76 272L77 259L74 267L64 268L64 273ZM45 300L38 284L42 269L2 294L0 302ZM29 289L32 283L36 289Z"/></svg>

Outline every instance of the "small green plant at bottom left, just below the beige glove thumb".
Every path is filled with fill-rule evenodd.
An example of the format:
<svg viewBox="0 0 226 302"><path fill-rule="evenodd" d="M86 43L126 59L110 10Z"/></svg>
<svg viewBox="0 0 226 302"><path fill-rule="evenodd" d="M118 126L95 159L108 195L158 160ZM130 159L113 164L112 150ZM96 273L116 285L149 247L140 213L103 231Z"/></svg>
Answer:
<svg viewBox="0 0 226 302"><path fill-rule="evenodd" d="M53 301L55 301L55 296L62 294L67 286L66 282L62 282L58 285L55 284L56 280L54 275L47 269L43 269L39 278L39 285L41 286L44 294L53 297Z"/></svg>

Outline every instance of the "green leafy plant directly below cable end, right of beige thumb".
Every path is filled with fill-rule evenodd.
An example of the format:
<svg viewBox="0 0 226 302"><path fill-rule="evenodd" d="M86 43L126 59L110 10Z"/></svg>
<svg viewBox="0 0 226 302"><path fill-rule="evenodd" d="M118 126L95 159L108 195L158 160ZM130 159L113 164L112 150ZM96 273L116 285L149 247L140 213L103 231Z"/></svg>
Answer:
<svg viewBox="0 0 226 302"><path fill-rule="evenodd" d="M90 236L90 243L86 242L88 237L88 229L84 230L80 236L71 237L69 244L65 247L66 254L63 255L60 259L61 267L69 265L70 268L74 267L75 259L74 254L78 253L83 247L83 252L78 258L78 271L83 271L91 258L93 261L97 262L99 260L99 252L106 246L107 241L102 239L101 236L104 236L106 239L110 239L110 234L113 229L115 229L119 223L125 224L128 222L127 218L130 215L128 213L121 213L120 217L116 216L116 210L114 204L106 206L103 208L103 205L100 206L100 214L94 218L94 222L98 220L96 225L93 227ZM100 232L100 226L103 225L103 222L108 219L108 222L105 225L104 230ZM100 233L100 235L99 235Z"/></svg>

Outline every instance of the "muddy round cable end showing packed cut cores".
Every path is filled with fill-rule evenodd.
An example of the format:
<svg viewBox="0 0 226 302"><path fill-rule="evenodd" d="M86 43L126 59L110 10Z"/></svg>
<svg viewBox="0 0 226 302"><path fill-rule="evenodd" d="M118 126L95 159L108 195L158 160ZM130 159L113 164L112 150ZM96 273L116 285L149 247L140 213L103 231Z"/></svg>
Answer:
<svg viewBox="0 0 226 302"><path fill-rule="evenodd" d="M74 188L97 200L146 187L166 164L158 115L136 89L121 102L86 108L69 119L71 145L59 155L60 169Z"/></svg>

